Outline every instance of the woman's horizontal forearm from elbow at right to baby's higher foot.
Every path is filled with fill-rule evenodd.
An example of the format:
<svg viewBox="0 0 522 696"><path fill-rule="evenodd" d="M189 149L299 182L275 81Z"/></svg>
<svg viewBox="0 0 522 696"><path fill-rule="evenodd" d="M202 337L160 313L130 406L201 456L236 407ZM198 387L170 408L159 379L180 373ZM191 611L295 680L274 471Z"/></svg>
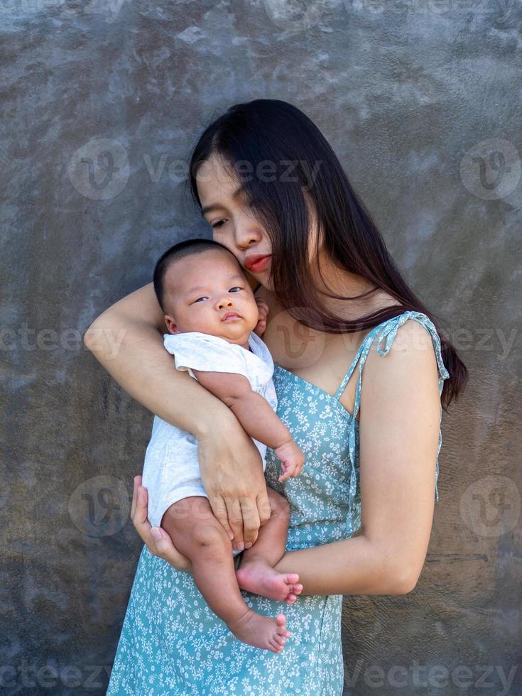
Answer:
<svg viewBox="0 0 522 696"><path fill-rule="evenodd" d="M364 534L287 551L276 570L299 573L301 594L406 594L412 589L407 569L393 567Z"/></svg>

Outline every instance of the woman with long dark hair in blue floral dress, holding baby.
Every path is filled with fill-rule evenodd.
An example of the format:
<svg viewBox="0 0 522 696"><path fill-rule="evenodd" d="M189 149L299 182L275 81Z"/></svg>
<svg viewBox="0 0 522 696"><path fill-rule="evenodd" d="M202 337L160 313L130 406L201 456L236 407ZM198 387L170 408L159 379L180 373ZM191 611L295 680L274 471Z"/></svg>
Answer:
<svg viewBox="0 0 522 696"><path fill-rule="evenodd" d="M284 608L291 636L281 653L237 641L187 559L151 530L136 477L131 516L146 546L108 693L341 694L342 595L415 587L437 500L441 396L446 408L467 370L298 109L271 99L231 107L197 143L190 185L214 239L268 304L278 415L305 452L303 472L280 484L268 450L265 482L227 406L173 369L151 284L98 317L85 342L131 396L197 437L202 480L234 548L254 543L266 521L266 484L287 497L276 568L297 572L303 592L285 607L243 592L261 614ZM116 357L111 335L121 339Z"/></svg>

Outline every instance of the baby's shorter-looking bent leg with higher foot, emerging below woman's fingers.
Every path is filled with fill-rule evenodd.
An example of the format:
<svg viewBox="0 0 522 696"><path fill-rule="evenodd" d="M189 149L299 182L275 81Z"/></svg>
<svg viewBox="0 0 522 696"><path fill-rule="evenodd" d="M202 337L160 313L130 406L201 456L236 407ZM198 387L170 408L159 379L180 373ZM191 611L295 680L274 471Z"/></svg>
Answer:
<svg viewBox="0 0 522 696"><path fill-rule="evenodd" d="M239 587L254 594L293 604L303 591L303 585L298 583L299 575L273 570L285 553L290 505L284 496L268 486L266 493L271 516L259 528L256 543L243 552L241 565L236 571L237 582Z"/></svg>

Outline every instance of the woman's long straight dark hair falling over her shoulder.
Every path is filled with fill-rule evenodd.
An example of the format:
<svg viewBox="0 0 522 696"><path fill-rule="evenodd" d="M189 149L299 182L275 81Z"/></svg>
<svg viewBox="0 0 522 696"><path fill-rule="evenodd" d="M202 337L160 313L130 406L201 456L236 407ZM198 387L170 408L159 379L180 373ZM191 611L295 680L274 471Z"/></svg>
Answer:
<svg viewBox="0 0 522 696"><path fill-rule="evenodd" d="M190 162L190 190L200 208L197 170L212 155L242 182L253 213L270 236L271 283L278 303L305 326L327 333L371 329L408 310L423 312L437 329L450 373L442 391L442 406L447 408L464 388L467 368L437 327L436 315L408 287L335 152L308 116L279 99L255 99L235 104L214 120ZM353 321L325 307L308 266L310 217L303 187L324 229L325 253L375 286L354 297L322 294L359 300L381 288L396 298L396 305Z"/></svg>

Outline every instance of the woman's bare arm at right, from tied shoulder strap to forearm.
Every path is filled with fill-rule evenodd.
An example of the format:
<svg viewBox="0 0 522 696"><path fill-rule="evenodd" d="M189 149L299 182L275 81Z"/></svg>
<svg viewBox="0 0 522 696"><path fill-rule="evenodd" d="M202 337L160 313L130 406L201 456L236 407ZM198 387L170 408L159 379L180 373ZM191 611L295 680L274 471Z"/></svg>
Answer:
<svg viewBox="0 0 522 696"><path fill-rule="evenodd" d="M360 533L289 551L276 570L299 573L302 594L410 592L430 540L439 423L433 343L417 322L407 322L388 354L373 345L364 366Z"/></svg>

